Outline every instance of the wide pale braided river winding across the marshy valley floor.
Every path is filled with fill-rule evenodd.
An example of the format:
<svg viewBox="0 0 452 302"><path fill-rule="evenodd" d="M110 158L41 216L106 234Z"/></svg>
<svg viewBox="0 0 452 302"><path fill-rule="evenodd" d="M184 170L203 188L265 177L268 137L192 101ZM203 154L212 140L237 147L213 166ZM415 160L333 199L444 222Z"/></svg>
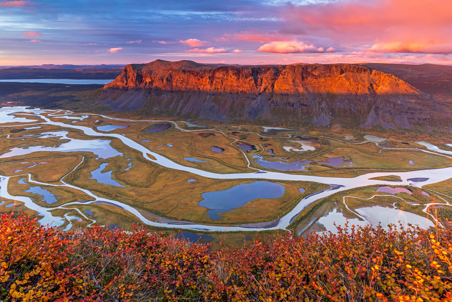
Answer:
<svg viewBox="0 0 452 302"><path fill-rule="evenodd" d="M36 117L40 117L41 119L45 120L45 122L40 124L29 124L31 120L27 120L25 118L21 117L15 117L15 114L19 114L27 112L29 115L34 115ZM59 126L61 128L74 128L74 129L80 129L88 136L105 136L105 137L114 137L117 139L120 139L124 144L131 147L132 149L135 149L142 153L143 157L147 160L157 163L159 165L162 165L167 168L172 168L176 170L183 170L187 171L196 175L200 175L203 177L209 177L209 178L217 178L217 179L237 179L237 178L254 178L254 179L269 179L269 180L295 180L295 181L312 181L312 182L322 182L330 184L330 189L318 192L316 194L312 194L308 197L305 197L302 199L297 206L294 207L290 213L288 213L286 216L283 216L277 221L274 221L273 223L268 224L250 224L250 225L232 225L232 226L220 226L220 225L200 225L195 224L191 222L184 222L184 221L169 221L168 223L162 223L162 222L154 222L146 219L143 215L141 215L140 211L133 208L132 206L128 206L127 204L124 204L120 201L111 200L107 198L98 197L94 193L90 192L89 190L82 189L79 187L75 187L71 184L68 184L64 182L64 178L61 181L63 184L61 185L53 185L53 184L47 184L42 182L33 181L31 179L30 174L24 173L24 177L28 178L29 182L33 182L36 184L41 185L50 185L50 186L65 186L65 187L72 187L75 189L78 189L80 191L85 192L89 196L93 197L94 201L88 201L84 202L83 204L89 204L92 202L109 202L113 203L116 206L122 207L123 209L131 212L135 216L137 216L143 223L148 225L155 225L155 226L163 226L163 227L174 227L174 228L183 228L183 229L191 229L191 230L207 230L207 231L259 231L259 230L273 230L273 229L285 229L291 221L293 221L293 218L297 216L298 213L300 213L303 208L305 208L307 205L309 205L311 202L316 201L320 198L324 198L327 196L330 196L333 193L349 190L355 187L363 187L368 185L388 185L388 184L394 184L391 182L385 182L385 181L379 181L379 180L370 180L369 178L372 177L378 177L378 176L387 176L387 175L398 175L402 179L402 182L397 182L397 185L411 185L416 187L422 187L427 184L435 183L435 182L441 182L448 178L452 177L452 167L449 168L440 168L440 169L430 169L430 170L418 170L418 171L410 171L410 172L388 172L388 173L368 173L365 175L361 175L358 177L348 178L348 177L319 177L319 176L309 176L309 175L303 175L303 174L288 174L284 172L273 172L273 171L265 171L265 170L256 170L254 173L232 173L232 174L219 174L219 173L212 173L203 171L197 168L192 167L185 167L182 165L179 165L178 163L172 162L170 159L165 158L164 156L154 153L152 150L147 149L143 145L133 141L132 139L128 139L127 137L121 135L121 134L109 134L109 133L100 133L95 131L92 128L85 127L85 126L78 126L73 124L66 124L61 122L56 122L53 120L50 120L46 115L42 115L43 113L47 113L48 117L57 117L57 116L72 116L76 119L80 119L79 116L82 116L82 114L73 114L72 112L68 111L61 111L61 110L40 110L40 109L26 109L26 107L3 107L0 108L0 125L8 126L9 123L14 122L14 125L17 126L38 126L42 124L49 124L49 125L55 125ZM87 115L87 114L83 114ZM126 120L126 119L116 119L116 118L110 118L108 116L104 115L98 115L103 116L104 118L110 119L110 120L122 120L122 121L128 121L128 122L134 122L134 120ZM143 120L141 120L143 121ZM170 122L175 125L175 127L181 131L198 131L198 130L185 130L181 129L175 122L172 121L163 121L163 120L145 120L150 122ZM20 122L21 124L18 125L17 122ZM11 124L9 124L11 125ZM220 131L218 129L207 129L212 131ZM206 131L206 129L202 129L202 131ZM260 135L260 134L258 134ZM0 137L0 145L1 141L9 139L8 135L3 135ZM78 140L80 142L80 140ZM90 142L90 141L87 141ZM83 144L77 144L80 146L80 151L86 151L86 146ZM420 150L420 149L418 149ZM71 149L71 151L77 151L76 149ZM422 150L426 153L433 153L430 151ZM0 158L5 158L9 156L13 156L14 153L11 153L11 155L7 155L7 153L11 152L5 152L4 154L0 154ZM150 158L147 154L151 154L155 157L155 159ZM445 157L452 158L448 154L438 154ZM302 172L301 172L302 173ZM422 178L423 181L420 182L413 182L408 179L414 179L414 178ZM426 179L427 178L427 179ZM426 180L425 180L426 179ZM24 196L12 196L8 193L7 187L8 187L8 181L9 177L0 175L0 196L8 199L18 200L24 202L25 206L28 207L31 210L38 211L38 214L41 216L44 216L42 219L39 220L39 223L42 225L52 225L52 226L59 226L62 225L66 218L62 218L59 216L52 216L50 213L53 209L62 208L62 206L69 206L72 204L79 204L80 202L69 202L62 206L57 207L42 207L38 206L33 202L33 200L29 197ZM74 208L75 209L75 208ZM80 213L81 216L85 217L88 221L92 220L85 216L81 211L75 209ZM68 229L68 228L66 228Z"/></svg>

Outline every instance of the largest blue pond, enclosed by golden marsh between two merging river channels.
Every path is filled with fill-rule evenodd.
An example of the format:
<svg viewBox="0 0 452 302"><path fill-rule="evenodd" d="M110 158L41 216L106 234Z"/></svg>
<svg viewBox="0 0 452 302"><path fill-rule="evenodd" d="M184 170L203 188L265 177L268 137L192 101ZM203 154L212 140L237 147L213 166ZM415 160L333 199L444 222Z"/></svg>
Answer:
<svg viewBox="0 0 452 302"><path fill-rule="evenodd" d="M275 182L241 183L224 191L202 193L203 199L199 201L198 206L209 209L207 214L212 219L217 219L221 217L217 213L231 211L256 198L281 197L285 189L283 185Z"/></svg>

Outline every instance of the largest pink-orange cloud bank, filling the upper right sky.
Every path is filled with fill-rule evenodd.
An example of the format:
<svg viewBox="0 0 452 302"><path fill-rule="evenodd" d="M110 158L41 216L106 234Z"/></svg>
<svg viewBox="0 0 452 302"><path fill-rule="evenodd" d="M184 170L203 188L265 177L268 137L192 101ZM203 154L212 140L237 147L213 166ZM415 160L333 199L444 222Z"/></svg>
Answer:
<svg viewBox="0 0 452 302"><path fill-rule="evenodd" d="M375 53L452 53L451 0L287 5L281 18L281 32L361 44Z"/></svg>

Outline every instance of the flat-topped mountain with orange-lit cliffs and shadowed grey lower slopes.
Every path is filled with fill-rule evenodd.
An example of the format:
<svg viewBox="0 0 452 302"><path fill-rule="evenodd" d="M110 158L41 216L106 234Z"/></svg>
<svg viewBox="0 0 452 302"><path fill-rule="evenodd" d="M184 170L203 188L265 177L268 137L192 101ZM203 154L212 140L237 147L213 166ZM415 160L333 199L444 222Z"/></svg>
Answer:
<svg viewBox="0 0 452 302"><path fill-rule="evenodd" d="M156 60L127 65L103 95L103 104L116 110L150 106L217 120L410 127L448 126L451 118L441 102L398 77L354 64L212 67Z"/></svg>

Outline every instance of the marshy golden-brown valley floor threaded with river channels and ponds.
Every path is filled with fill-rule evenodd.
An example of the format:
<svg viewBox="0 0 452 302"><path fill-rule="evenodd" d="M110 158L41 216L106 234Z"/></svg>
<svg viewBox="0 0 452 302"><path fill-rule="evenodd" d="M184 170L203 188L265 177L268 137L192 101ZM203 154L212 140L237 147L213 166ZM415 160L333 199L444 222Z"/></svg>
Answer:
<svg viewBox="0 0 452 302"><path fill-rule="evenodd" d="M419 138L24 107L0 114L0 211L63 230L140 222L217 248L256 232L334 232L346 218L428 228L452 213L452 152Z"/></svg>

